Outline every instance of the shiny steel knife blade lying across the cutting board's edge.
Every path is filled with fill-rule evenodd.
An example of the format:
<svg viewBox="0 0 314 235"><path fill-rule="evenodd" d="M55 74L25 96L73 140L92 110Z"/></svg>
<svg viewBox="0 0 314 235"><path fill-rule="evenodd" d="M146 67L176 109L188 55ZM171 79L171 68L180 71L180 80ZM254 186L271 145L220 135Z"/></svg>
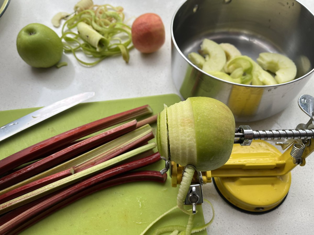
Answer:
<svg viewBox="0 0 314 235"><path fill-rule="evenodd" d="M59 112L62 112L70 107L73 107L93 96L95 96L94 91L79 93L74 96L57 101L51 105L40 108L8 124L0 126L0 141L26 128L29 128L47 118L50 118Z"/></svg>

